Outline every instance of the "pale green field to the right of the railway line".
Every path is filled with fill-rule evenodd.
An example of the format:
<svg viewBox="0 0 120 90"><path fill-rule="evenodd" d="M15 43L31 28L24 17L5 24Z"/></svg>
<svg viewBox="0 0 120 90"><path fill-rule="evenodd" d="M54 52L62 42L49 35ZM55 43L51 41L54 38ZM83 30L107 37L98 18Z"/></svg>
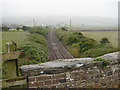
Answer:
<svg viewBox="0 0 120 90"><path fill-rule="evenodd" d="M82 32L86 37L100 41L101 38L108 38L113 47L118 47L118 31L96 31L96 32Z"/></svg>

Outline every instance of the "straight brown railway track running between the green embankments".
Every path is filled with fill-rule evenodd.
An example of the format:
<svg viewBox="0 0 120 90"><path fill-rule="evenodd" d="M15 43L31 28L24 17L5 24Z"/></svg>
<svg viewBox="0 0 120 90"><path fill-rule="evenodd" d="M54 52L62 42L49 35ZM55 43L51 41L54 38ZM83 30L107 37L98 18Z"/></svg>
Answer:
<svg viewBox="0 0 120 90"><path fill-rule="evenodd" d="M56 59L72 59L74 58L62 45L57 36L55 35L55 31L52 30L48 33L47 36L48 43L48 51L49 51L49 60Z"/></svg>

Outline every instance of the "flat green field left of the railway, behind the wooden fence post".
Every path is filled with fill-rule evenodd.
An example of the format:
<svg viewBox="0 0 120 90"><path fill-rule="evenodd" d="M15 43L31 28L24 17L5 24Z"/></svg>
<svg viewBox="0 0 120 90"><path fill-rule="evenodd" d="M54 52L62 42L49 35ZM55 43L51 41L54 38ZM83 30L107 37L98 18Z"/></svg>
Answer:
<svg viewBox="0 0 120 90"><path fill-rule="evenodd" d="M17 43L18 48L24 45L27 41L28 32L2 32L2 49L0 51L6 51L6 43L11 40Z"/></svg>

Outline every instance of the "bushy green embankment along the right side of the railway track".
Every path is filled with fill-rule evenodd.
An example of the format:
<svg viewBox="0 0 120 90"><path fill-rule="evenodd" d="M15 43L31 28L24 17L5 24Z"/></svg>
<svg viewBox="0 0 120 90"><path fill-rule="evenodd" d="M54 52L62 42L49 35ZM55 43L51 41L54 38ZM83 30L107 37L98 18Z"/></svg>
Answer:
<svg viewBox="0 0 120 90"><path fill-rule="evenodd" d="M117 49L111 45L111 42L98 43L96 40L94 40L95 38L88 38L80 32L76 33L59 29L56 30L56 34L58 38L64 43L67 50L75 58L98 57L106 53L117 51Z"/></svg>

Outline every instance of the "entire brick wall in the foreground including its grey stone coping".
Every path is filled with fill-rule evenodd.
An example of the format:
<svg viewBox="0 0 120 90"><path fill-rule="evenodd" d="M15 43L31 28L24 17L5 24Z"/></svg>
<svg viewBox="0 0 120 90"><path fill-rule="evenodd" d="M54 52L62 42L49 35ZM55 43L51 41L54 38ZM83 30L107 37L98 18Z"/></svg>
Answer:
<svg viewBox="0 0 120 90"><path fill-rule="evenodd" d="M93 58L81 58L26 65L21 71L28 75L29 88L117 88L120 86L117 54L101 56L111 62L107 67Z"/></svg>

